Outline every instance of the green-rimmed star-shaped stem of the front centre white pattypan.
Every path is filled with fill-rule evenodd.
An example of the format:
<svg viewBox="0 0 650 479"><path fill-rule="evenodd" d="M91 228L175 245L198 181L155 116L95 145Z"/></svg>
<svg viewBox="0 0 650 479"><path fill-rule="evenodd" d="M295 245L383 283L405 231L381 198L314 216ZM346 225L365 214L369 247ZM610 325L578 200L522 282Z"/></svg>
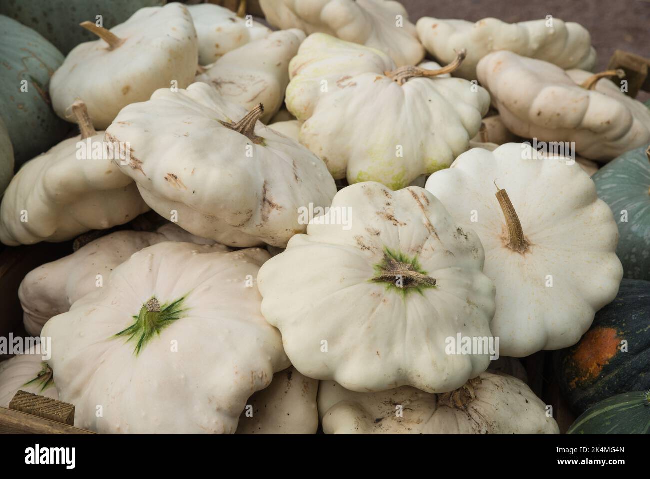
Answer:
<svg viewBox="0 0 650 479"><path fill-rule="evenodd" d="M370 281L385 282L386 289L403 295L411 292L422 294L427 288L435 288L436 280L420 266L417 256L409 258L401 251L383 250L383 259L374 266L376 276Z"/></svg>

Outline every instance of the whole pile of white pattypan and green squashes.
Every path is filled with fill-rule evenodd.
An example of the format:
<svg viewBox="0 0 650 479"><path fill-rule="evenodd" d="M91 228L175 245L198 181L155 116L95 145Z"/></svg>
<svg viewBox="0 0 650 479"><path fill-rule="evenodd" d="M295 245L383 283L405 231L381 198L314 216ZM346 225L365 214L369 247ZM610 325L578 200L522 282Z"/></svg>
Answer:
<svg viewBox="0 0 650 479"><path fill-rule="evenodd" d="M647 432L650 109L582 25L162 3L0 8L0 241L77 238L19 288L51 357L0 363L0 405L100 433L558 433L517 359L556 351L569 432Z"/></svg>

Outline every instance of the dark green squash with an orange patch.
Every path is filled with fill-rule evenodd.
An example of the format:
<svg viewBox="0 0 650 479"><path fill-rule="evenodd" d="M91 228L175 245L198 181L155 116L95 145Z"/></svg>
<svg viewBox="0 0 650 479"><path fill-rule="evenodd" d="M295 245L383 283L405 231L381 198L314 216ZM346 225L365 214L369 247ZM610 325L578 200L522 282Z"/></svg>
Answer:
<svg viewBox="0 0 650 479"><path fill-rule="evenodd" d="M596 313L555 370L571 409L582 414L617 394L650 389L650 281L623 279L616 299Z"/></svg>

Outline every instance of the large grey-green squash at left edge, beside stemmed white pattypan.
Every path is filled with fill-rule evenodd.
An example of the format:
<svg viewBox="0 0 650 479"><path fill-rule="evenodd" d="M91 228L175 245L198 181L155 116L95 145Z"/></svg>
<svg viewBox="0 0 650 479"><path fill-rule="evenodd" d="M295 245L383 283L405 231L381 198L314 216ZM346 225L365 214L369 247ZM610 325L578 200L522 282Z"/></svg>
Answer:
<svg viewBox="0 0 650 479"><path fill-rule="evenodd" d="M0 15L0 116L14 145L16 167L49 150L70 130L54 113L48 94L50 77L63 59L38 32Z"/></svg>

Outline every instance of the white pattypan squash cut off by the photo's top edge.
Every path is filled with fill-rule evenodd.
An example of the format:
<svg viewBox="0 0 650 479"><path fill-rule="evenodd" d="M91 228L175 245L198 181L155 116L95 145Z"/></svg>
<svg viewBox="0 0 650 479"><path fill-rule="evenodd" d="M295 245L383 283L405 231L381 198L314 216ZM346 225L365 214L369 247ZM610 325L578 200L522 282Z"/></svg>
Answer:
<svg viewBox="0 0 650 479"><path fill-rule="evenodd" d="M415 25L393 0L261 0L266 20L278 28L327 33L389 55L398 65L424 58Z"/></svg>

